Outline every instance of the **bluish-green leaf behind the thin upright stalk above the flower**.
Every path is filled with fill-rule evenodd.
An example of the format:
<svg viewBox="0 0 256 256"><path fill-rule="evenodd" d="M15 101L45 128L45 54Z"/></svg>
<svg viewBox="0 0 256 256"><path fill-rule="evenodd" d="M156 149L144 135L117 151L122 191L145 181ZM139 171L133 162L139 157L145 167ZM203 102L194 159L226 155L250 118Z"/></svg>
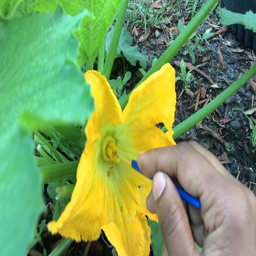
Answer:
<svg viewBox="0 0 256 256"><path fill-rule="evenodd" d="M106 35L106 46L105 49L108 51L110 47L111 37L113 35L114 29L112 28L111 31ZM125 30L122 30L120 39L118 42L117 52L116 55L120 55L123 53L123 56L131 63L131 65L136 66L137 61L139 61L140 66L143 69L146 69L147 59L146 57L139 52L138 46L132 46L133 38L132 36Z"/></svg>

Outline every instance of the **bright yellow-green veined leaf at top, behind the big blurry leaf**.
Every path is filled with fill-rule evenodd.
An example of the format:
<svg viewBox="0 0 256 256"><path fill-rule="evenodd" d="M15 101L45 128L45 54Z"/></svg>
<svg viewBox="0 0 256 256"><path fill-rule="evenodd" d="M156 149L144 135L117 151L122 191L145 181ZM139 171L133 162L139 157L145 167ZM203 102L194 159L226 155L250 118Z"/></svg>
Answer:
<svg viewBox="0 0 256 256"><path fill-rule="evenodd" d="M89 69L92 69L102 41L122 2L120 0L38 0L31 11L54 10L58 4L61 4L63 10L70 15L76 15L82 9L87 10L91 18L84 17L79 31L76 32L80 42L77 62L80 66L86 63Z"/></svg>

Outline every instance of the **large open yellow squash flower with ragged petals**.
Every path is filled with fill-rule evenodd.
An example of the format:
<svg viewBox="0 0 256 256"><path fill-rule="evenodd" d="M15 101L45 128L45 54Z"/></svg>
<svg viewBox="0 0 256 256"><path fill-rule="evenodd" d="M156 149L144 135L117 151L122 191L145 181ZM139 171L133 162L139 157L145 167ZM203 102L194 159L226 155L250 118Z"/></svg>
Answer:
<svg viewBox="0 0 256 256"><path fill-rule="evenodd" d="M148 255L151 229L145 201L152 181L131 168L139 152L175 144L172 135L175 71L164 65L134 90L121 111L108 81L88 71L96 112L86 126L87 142L77 169L77 183L65 211L48 224L52 233L93 241L103 230L119 255ZM157 123L168 130L163 133Z"/></svg>

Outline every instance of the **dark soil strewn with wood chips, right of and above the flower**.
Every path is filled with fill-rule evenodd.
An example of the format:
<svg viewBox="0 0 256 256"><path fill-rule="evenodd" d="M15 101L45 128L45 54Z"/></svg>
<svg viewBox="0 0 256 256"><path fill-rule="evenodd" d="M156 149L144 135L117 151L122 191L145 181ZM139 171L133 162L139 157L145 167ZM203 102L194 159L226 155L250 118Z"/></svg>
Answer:
<svg viewBox="0 0 256 256"><path fill-rule="evenodd" d="M179 7L182 8L182 5ZM180 12L183 14L179 19L189 16L185 9L180 10ZM173 23L169 25L170 28L177 27L177 19L178 17L174 16ZM189 19L185 24L188 21ZM210 25L218 27L214 28ZM208 16L208 19L203 22L197 31L204 34L207 29L211 29L211 32L215 33L221 28L223 26L219 23L218 14L214 12ZM156 31L160 32L158 37L156 37ZM135 43L138 43L139 36L134 36ZM139 45L141 52L148 58L149 63L155 57L159 58L167 49L166 45L159 45L159 39L167 40L166 32L153 28L147 41ZM182 81L177 81L175 125L193 115L205 104L204 101L203 104L198 105L196 110L196 102L214 99L255 63L254 53L240 44L229 30L201 45L205 51L195 51L196 63L194 66L204 63L205 65L198 69L208 75L220 88L212 88L212 83L196 71L193 71L196 80L191 82L189 89L184 88ZM180 68L175 65L176 61L184 59L185 62L191 63L189 54L183 54L185 50L186 48L183 47L170 62L176 70L176 76L180 76L181 73ZM209 60L204 62L204 58ZM151 65L148 66L151 67ZM253 80L256 81L256 77ZM252 184L256 182L256 148L252 147L250 139L247 138L251 134L249 121L241 111L233 110L234 108L241 108L246 111L255 107L255 98L256 93L250 86L249 81L216 111L207 116L198 125L199 127L193 127L176 142L196 140L214 153L234 177L246 186L251 186L251 190L256 195L256 185ZM255 118L255 114L254 112L252 117ZM224 121L226 122L224 123ZM217 136L214 137L212 133L200 128L200 126L207 126L212 132L217 133L219 135L218 139ZM225 146L224 143L228 143L228 146Z"/></svg>

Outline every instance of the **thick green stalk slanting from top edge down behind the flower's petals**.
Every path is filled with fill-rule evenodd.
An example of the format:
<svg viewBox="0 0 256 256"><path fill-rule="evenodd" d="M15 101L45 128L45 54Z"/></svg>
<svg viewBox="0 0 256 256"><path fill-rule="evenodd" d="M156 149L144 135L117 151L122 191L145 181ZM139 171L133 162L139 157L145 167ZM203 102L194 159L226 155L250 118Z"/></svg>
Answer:
<svg viewBox="0 0 256 256"><path fill-rule="evenodd" d="M150 75L158 71L165 63L173 59L173 57L185 44L189 36L195 32L195 30L198 28L200 23L203 22L206 15L217 4L217 2L218 0L207 0L207 2L201 7L198 13L194 16L194 18L190 20L190 22L187 24L184 30L177 36L177 38L174 41L172 41L172 43L169 45L166 51L162 54L162 56L155 62L154 66L147 71L146 75L143 76L143 78L139 81L139 83L135 86L135 88L137 88L139 84L142 83L144 80L146 80ZM122 110L125 108L133 90L121 102Z"/></svg>

